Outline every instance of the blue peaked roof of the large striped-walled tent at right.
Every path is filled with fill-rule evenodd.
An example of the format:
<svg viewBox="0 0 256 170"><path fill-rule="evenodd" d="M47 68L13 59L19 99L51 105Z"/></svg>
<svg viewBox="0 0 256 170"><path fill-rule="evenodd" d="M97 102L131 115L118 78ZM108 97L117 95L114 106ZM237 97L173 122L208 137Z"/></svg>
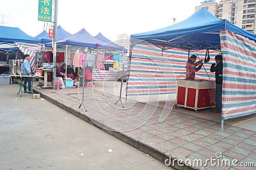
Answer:
<svg viewBox="0 0 256 170"><path fill-rule="evenodd" d="M201 8L188 19L172 26L131 35L131 41L145 41L161 49L184 50L220 49L220 31L231 31L256 42L256 35L241 29L228 20L217 19Z"/></svg>

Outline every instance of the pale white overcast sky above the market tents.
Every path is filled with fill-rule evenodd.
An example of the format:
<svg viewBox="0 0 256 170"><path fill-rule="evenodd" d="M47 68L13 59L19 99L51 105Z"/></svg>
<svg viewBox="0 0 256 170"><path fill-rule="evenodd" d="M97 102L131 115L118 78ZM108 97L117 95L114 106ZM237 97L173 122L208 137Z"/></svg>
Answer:
<svg viewBox="0 0 256 170"><path fill-rule="evenodd" d="M57 25L70 34L85 29L116 36L153 31L187 19L204 0L58 0ZM30 36L42 33L47 22L38 20L38 0L0 0L1 26L19 27ZM196 22L196 21L195 21ZM48 32L48 31L47 31ZM58 33L57 33L58 34Z"/></svg>

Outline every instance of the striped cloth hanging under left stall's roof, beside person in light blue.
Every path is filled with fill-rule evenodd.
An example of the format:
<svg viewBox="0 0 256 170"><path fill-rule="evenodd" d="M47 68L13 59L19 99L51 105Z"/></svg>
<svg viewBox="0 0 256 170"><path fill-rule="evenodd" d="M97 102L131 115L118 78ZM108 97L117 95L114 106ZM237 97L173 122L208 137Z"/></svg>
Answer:
<svg viewBox="0 0 256 170"><path fill-rule="evenodd" d="M24 54L29 54L31 66L31 72L36 72L36 52L39 50L44 50L45 47L41 43L16 43L19 50Z"/></svg>

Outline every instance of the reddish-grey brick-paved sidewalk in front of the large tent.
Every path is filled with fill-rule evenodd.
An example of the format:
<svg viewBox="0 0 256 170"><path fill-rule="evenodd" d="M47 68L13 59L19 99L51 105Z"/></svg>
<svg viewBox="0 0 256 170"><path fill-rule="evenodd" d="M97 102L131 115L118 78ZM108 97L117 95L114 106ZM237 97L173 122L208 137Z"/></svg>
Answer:
<svg viewBox="0 0 256 170"><path fill-rule="evenodd" d="M84 88L84 105L81 108L82 88L33 89L42 98L148 153L163 164L170 164L168 160L171 160L171 166L177 169L256 169L255 131L225 124L224 132L221 132L219 122L175 109L169 114L170 109L133 100L125 102L122 99L122 108L120 102L115 105L118 97L95 88ZM210 162L211 158L215 160ZM178 159L184 162L178 163ZM204 164L207 159L207 166L197 166L196 162L202 160ZM230 162L230 166L221 166L223 162ZM254 167L241 167L241 163L252 163Z"/></svg>

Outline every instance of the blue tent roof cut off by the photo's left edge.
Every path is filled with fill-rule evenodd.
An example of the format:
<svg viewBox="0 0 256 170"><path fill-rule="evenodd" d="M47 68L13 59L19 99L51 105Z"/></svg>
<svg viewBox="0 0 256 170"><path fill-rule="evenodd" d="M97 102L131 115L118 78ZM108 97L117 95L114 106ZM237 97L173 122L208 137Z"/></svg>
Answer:
<svg viewBox="0 0 256 170"><path fill-rule="evenodd" d="M0 26L0 43L13 42L40 43L40 40L27 35L19 27Z"/></svg>

